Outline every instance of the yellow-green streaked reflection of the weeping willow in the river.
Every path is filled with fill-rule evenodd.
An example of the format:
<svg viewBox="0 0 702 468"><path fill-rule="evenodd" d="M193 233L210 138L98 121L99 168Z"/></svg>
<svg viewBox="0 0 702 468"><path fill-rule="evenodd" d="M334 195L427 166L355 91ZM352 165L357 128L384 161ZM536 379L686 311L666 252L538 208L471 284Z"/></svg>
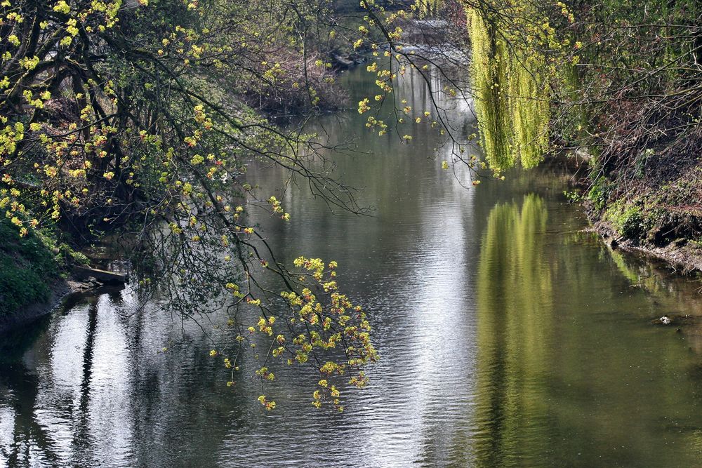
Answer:
<svg viewBox="0 0 702 468"><path fill-rule="evenodd" d="M498 466L517 452L519 428L547 404L529 394L529 377L548 358L545 333L552 322L552 283L543 257L548 212L540 196L524 196L491 211L478 268L479 379L484 431L475 437L483 464ZM538 443L538 441L535 441Z"/></svg>

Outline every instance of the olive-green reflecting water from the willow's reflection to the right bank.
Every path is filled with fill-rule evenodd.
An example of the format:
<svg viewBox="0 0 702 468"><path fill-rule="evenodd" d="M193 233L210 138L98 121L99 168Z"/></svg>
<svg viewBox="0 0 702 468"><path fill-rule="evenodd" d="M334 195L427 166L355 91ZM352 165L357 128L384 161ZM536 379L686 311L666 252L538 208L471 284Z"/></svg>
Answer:
<svg viewBox="0 0 702 468"><path fill-rule="evenodd" d="M488 216L463 449L479 467L696 466L700 371L685 337L650 325L660 296L630 287L621 259L553 232L562 215L529 194Z"/></svg>

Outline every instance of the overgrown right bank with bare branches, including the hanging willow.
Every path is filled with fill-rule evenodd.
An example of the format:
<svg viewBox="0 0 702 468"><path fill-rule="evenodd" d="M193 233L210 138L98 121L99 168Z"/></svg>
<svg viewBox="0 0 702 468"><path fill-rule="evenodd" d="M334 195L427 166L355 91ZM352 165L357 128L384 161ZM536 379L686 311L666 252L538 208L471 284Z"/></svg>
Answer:
<svg viewBox="0 0 702 468"><path fill-rule="evenodd" d="M595 218L642 245L702 240L698 2L479 0L467 12L492 164L587 152Z"/></svg>

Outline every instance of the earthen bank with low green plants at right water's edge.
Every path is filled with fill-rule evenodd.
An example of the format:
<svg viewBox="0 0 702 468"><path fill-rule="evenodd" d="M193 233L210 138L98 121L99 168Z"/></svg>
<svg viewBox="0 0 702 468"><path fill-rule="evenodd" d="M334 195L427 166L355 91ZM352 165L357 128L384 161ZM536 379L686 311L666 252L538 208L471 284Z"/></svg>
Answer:
<svg viewBox="0 0 702 468"><path fill-rule="evenodd" d="M702 165L689 144L646 149L609 176L593 176L593 168L585 196L595 229L611 246L664 260L682 274L702 272Z"/></svg>

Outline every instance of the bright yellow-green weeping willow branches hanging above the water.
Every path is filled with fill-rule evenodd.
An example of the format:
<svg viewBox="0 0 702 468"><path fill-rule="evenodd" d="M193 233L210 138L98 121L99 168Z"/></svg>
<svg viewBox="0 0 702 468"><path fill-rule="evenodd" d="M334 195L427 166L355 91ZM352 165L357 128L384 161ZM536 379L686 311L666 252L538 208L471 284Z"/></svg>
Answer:
<svg viewBox="0 0 702 468"><path fill-rule="evenodd" d="M505 24L496 13L477 8L466 13L475 113L486 159L496 169L536 166L548 147L545 59L519 32L526 25Z"/></svg>

